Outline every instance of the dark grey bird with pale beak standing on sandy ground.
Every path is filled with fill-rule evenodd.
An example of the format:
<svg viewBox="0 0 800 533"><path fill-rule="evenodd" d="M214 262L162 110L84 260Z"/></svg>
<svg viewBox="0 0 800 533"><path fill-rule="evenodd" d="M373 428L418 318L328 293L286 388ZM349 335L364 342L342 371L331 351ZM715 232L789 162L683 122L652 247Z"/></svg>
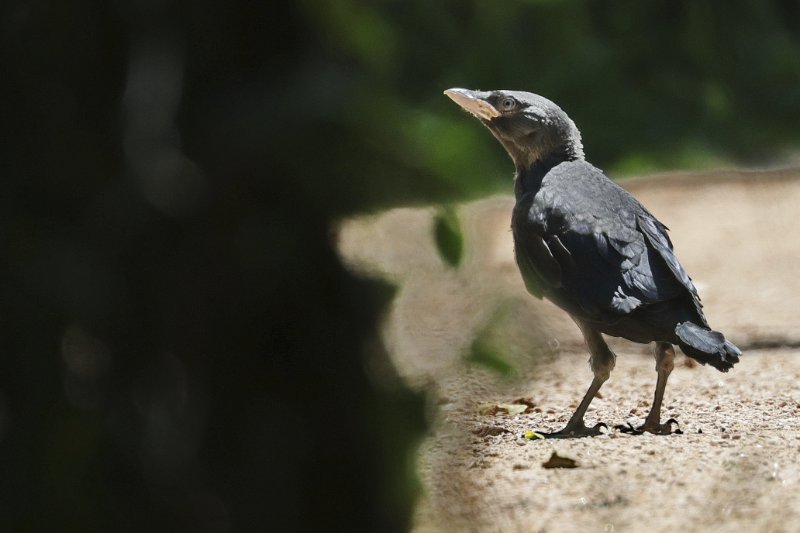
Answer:
<svg viewBox="0 0 800 533"><path fill-rule="evenodd" d="M524 91L444 91L477 118L514 162L511 230L525 287L577 324L590 353L593 379L566 426L546 438L600 435L586 410L616 363L603 335L653 343L656 388L635 433L668 435L661 422L675 349L727 372L741 350L712 330L697 288L673 250L668 228L602 170L586 161L581 134L555 103ZM621 427L621 426L620 426Z"/></svg>

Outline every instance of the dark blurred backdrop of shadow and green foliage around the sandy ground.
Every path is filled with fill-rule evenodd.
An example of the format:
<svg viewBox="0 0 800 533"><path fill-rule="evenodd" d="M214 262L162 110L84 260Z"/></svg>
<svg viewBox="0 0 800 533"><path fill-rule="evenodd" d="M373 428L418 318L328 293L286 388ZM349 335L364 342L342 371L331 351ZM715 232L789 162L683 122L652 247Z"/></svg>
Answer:
<svg viewBox="0 0 800 533"><path fill-rule="evenodd" d="M615 173L791 161L793 1L9 0L0 530L408 527L423 399L331 222L510 188L443 89Z"/></svg>

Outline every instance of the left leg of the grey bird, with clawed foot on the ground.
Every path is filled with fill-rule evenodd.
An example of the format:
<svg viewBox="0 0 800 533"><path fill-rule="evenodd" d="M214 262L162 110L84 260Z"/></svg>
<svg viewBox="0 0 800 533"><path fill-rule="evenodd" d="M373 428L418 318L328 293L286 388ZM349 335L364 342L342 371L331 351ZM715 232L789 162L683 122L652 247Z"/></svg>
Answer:
<svg viewBox="0 0 800 533"><path fill-rule="evenodd" d="M586 339L586 344L591 353L589 363L592 365L594 379L592 380L592 384L589 385L589 390L586 391L586 395L584 395L581 404L575 410L575 413L569 419L564 429L555 433L542 433L542 435L548 439L591 437L600 435L600 428L607 427L601 422L594 427L587 428L583 417L586 414L586 409L589 408L589 404L592 403L592 400L597 394L597 391L600 390L600 387L603 386L603 383L605 383L611 375L616 356L608 347L606 341L603 340L600 333L581 323L578 323L578 326L580 326L583 332L583 337Z"/></svg>

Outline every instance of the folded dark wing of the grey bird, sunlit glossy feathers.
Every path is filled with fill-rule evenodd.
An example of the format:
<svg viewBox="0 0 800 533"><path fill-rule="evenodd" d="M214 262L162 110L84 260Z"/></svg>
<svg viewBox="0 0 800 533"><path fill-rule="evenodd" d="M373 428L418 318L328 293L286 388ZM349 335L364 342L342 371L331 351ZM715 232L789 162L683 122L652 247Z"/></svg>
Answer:
<svg viewBox="0 0 800 533"><path fill-rule="evenodd" d="M600 320L680 297L685 290L696 298L666 228L636 199L588 163L554 171L527 218L529 226L542 228L537 235L550 252L548 259L558 265L551 270L560 273L562 298ZM555 253L559 246L563 252ZM538 266L540 257L526 253L524 259Z"/></svg>

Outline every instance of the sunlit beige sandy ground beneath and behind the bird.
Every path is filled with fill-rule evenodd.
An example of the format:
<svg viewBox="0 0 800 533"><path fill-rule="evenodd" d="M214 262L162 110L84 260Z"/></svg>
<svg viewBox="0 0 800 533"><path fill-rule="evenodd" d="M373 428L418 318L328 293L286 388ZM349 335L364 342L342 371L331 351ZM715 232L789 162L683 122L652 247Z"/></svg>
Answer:
<svg viewBox="0 0 800 533"><path fill-rule="evenodd" d="M800 175L623 185L670 226L709 322L745 350L728 374L678 358L663 415L682 434L521 437L563 426L591 372L577 328L525 293L508 230L511 197L459 208L466 255L458 268L433 246L434 208L342 224L345 261L398 284L383 336L398 373L430 398L415 531L800 530ZM467 362L487 331L502 339L511 375ZM587 424L637 425L655 387L650 348L610 341L617 367ZM528 413L485 407L520 399ZM577 466L544 468L554 451Z"/></svg>

